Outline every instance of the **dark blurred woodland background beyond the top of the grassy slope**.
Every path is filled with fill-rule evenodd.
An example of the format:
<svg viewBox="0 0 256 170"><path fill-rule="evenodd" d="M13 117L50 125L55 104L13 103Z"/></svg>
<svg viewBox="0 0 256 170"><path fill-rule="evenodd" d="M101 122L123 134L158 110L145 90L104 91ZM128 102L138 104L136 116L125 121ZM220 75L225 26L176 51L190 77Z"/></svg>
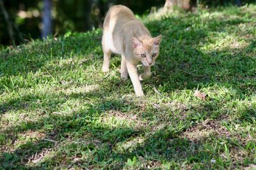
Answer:
<svg viewBox="0 0 256 170"><path fill-rule="evenodd" d="M187 3L184 10L189 11L199 4L205 8L240 6L255 0L0 0L0 45L18 45L31 38L102 27L104 15L113 4L124 4L143 15L153 6L163 7L166 1Z"/></svg>

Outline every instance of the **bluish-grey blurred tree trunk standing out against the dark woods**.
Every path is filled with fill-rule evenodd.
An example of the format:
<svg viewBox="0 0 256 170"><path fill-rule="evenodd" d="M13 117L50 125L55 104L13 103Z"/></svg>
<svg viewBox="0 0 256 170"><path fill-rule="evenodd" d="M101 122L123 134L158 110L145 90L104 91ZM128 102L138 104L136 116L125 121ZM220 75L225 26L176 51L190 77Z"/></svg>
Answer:
<svg viewBox="0 0 256 170"><path fill-rule="evenodd" d="M44 0L42 38L46 38L52 33L51 8L51 0Z"/></svg>

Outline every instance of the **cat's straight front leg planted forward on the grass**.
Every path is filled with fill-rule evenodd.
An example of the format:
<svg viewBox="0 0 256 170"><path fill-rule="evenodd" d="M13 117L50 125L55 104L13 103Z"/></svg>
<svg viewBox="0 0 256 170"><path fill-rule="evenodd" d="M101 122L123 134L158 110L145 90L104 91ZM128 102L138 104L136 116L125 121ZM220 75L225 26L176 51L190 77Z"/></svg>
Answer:
<svg viewBox="0 0 256 170"><path fill-rule="evenodd" d="M129 76L132 80L132 85L134 87L136 96L144 96L136 65L126 60L126 66L127 66Z"/></svg>

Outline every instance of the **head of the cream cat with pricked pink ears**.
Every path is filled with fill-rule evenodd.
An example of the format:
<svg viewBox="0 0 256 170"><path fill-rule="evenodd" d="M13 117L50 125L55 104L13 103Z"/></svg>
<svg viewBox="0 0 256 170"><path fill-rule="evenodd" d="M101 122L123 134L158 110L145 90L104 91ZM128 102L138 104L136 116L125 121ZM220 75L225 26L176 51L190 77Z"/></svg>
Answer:
<svg viewBox="0 0 256 170"><path fill-rule="evenodd" d="M144 66L153 66L159 55L159 47L162 36L156 38L138 39L132 37L132 48L136 59Z"/></svg>

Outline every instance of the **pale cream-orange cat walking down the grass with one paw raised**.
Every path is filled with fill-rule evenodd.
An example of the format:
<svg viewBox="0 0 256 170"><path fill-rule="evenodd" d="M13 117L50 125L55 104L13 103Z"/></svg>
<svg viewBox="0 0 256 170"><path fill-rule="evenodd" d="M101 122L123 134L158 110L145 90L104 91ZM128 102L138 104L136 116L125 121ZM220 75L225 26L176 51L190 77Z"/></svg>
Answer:
<svg viewBox="0 0 256 170"><path fill-rule="evenodd" d="M104 62L102 71L109 71L111 52L122 55L121 76L132 80L136 96L143 96L140 80L150 77L158 54L161 36L152 38L143 23L132 11L122 5L112 6L104 20L102 49ZM137 65L142 62L144 73L138 75Z"/></svg>

